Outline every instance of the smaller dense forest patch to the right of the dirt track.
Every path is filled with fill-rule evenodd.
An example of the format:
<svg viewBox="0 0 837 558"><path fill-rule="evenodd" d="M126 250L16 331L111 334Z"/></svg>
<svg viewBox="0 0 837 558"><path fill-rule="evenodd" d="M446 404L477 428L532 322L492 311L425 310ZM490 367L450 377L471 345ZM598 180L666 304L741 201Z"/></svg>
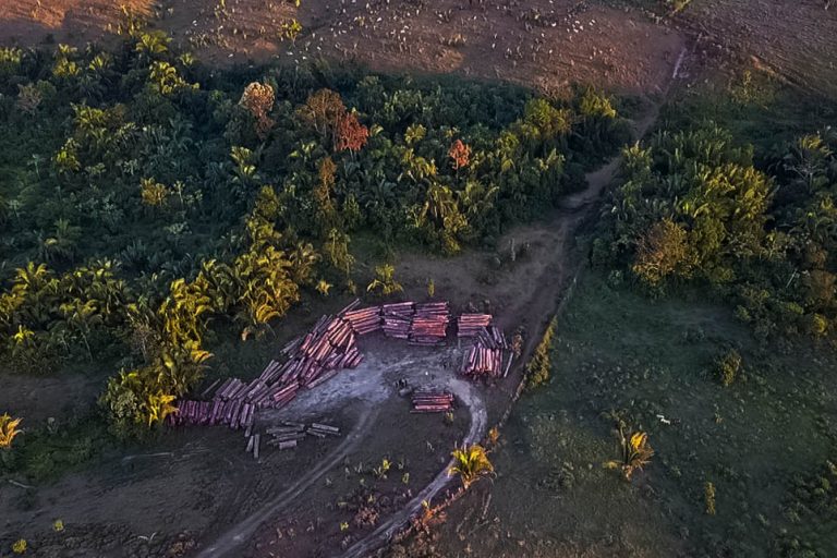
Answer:
<svg viewBox="0 0 837 558"><path fill-rule="evenodd" d="M653 290L711 286L757 335L837 329L837 133L789 141L754 163L717 124L662 131L624 149L597 262Z"/></svg>

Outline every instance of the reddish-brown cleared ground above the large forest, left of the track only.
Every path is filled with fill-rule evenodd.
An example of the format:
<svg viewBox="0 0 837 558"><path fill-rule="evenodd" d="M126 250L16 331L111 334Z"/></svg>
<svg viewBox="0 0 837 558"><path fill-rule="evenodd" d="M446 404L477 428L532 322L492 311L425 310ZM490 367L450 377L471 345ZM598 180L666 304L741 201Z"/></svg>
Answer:
<svg viewBox="0 0 837 558"><path fill-rule="evenodd" d="M41 2L44 3L44 2ZM381 71L460 73L542 89L570 83L659 90L684 38L641 13L575 0L437 2L132 0L180 45L215 64L315 58ZM0 13L0 43L83 44L112 34L121 11L104 0L20 0ZM283 40L282 25L303 31Z"/></svg>

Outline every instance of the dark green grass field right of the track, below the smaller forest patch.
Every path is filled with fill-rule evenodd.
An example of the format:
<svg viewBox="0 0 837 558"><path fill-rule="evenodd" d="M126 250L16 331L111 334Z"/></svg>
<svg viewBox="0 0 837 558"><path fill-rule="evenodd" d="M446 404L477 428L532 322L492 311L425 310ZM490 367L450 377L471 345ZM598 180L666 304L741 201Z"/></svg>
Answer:
<svg viewBox="0 0 837 558"><path fill-rule="evenodd" d="M724 387L714 362L729 348L743 365ZM813 347L760 344L701 292L651 300L591 271L559 319L551 380L502 433L495 536L471 548L835 556L835 369ZM630 483L603 468L618 457L617 420L656 451Z"/></svg>

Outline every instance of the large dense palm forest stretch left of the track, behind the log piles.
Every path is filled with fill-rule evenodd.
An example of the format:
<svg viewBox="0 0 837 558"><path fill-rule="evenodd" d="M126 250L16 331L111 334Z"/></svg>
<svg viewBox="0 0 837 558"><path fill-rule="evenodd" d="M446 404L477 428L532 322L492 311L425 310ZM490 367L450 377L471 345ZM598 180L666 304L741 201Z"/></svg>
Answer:
<svg viewBox="0 0 837 558"><path fill-rule="evenodd" d="M592 89L210 71L160 32L0 49L0 348L19 372L122 359L120 434L201 379L213 327L264 333L354 291L351 235L453 254L583 186L629 136Z"/></svg>

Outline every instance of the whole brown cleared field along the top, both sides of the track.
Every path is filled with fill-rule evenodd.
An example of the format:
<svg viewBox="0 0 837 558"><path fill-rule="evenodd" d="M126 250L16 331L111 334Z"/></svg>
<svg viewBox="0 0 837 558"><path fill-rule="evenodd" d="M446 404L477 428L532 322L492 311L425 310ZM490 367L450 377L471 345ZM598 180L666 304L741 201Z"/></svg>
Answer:
<svg viewBox="0 0 837 558"><path fill-rule="evenodd" d="M223 7L130 0L120 5L154 16L155 25L183 48L216 64L324 57L381 71L454 72L547 90L591 83L654 93L691 40L695 73L731 72L752 59L802 88L826 94L834 92L837 76L837 47L829 40L837 11L826 11L822 0L693 0L672 21L662 2L652 0L525 5L310 0L300 8L280 0L229 0ZM0 39L32 46L49 37L83 45L113 34L121 17L112 2L21 0L0 14ZM302 32L293 43L282 40L281 26L293 20Z"/></svg>

